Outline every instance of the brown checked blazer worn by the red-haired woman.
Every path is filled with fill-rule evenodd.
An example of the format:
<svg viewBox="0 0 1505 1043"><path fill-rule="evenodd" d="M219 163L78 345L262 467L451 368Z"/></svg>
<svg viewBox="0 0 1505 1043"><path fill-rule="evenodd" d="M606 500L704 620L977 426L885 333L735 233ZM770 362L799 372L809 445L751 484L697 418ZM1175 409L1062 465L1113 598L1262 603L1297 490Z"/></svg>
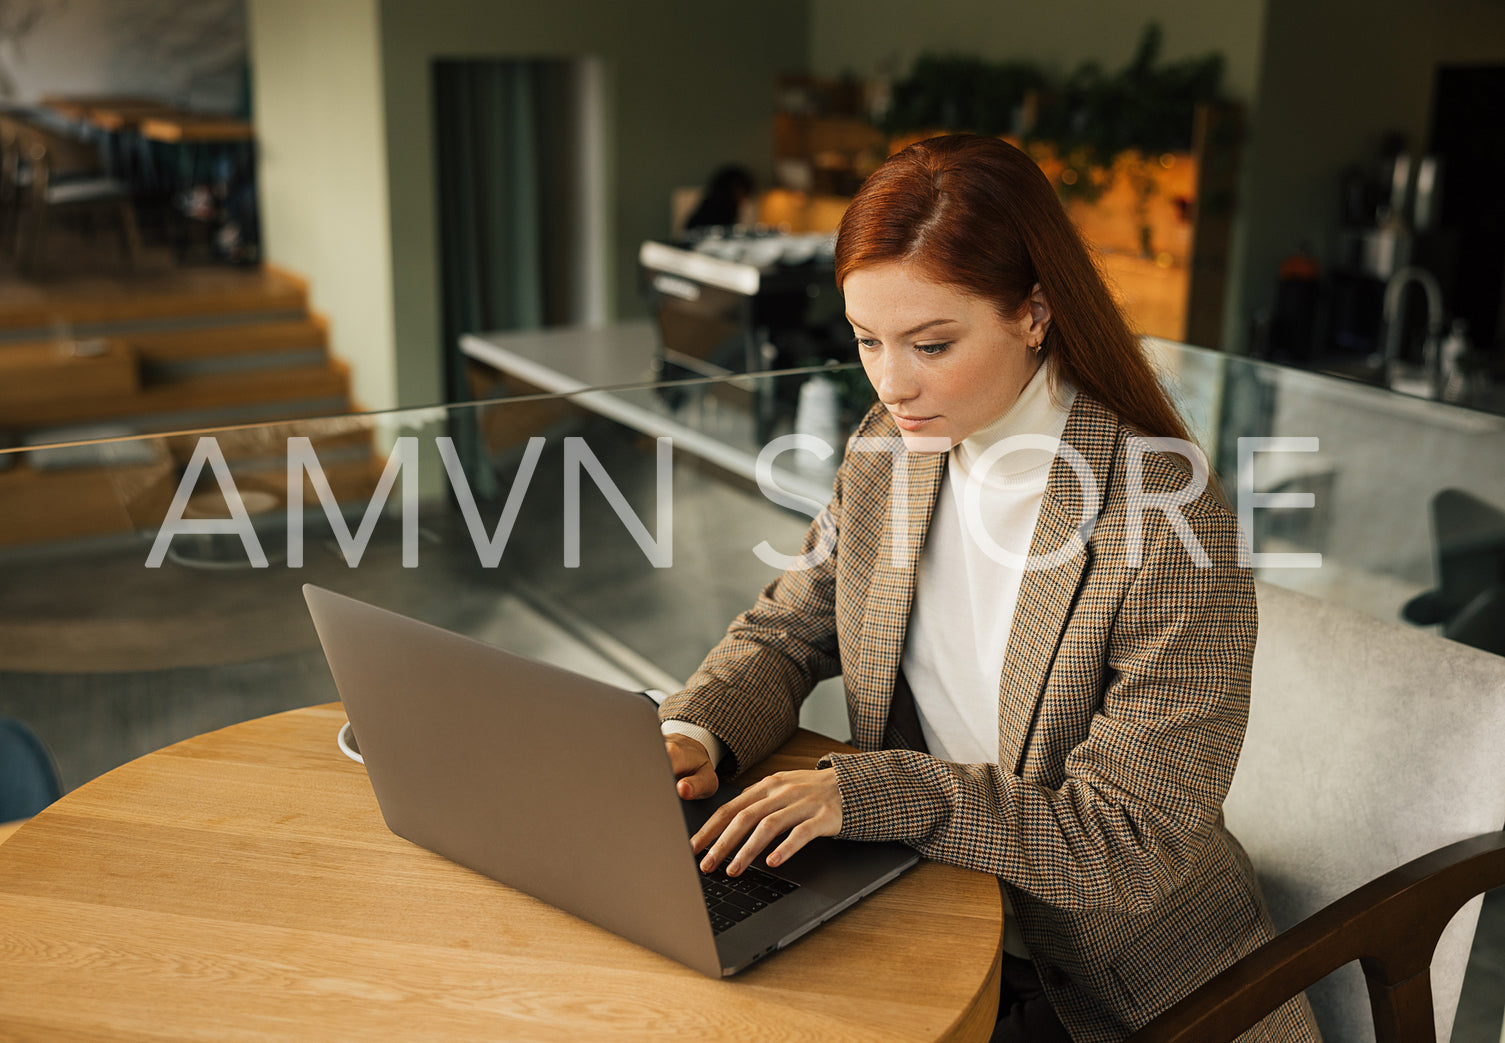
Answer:
<svg viewBox="0 0 1505 1043"><path fill-rule="evenodd" d="M843 674L862 753L823 762L841 835L998 876L1061 1022L1108 1041L1273 935L1222 819L1257 617L1230 512L1207 491L1165 510L1184 467L1088 394L1061 441L1031 543L1041 567L1023 576L998 682L998 763L942 762L900 727L895 679L947 455L903 452L880 406L801 563L662 715L719 737L733 774L793 733L814 682ZM1318 1034L1299 998L1246 1038Z"/></svg>

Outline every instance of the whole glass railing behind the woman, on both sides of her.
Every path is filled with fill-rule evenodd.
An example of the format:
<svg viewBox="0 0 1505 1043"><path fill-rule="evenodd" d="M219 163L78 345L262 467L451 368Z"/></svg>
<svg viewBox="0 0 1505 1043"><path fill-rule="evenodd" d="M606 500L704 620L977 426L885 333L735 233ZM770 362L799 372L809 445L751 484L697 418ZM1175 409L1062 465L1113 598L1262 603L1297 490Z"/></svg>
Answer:
<svg viewBox="0 0 1505 1043"><path fill-rule="evenodd" d="M1254 549L1321 555L1320 567L1257 558L1264 579L1397 619L1439 584L1437 494L1505 507L1505 417L1180 346L1154 354L1230 498L1264 497L1249 510ZM865 405L861 381L852 367L823 375L858 399L816 426L840 442ZM798 552L829 494L837 458L786 439L811 376L0 452L0 713L30 722L77 786L176 739L334 700L306 582L671 689L778 555ZM1260 452L1246 452L1240 486L1251 438L1315 441L1245 441ZM1300 494L1311 506L1281 500ZM838 682L811 697L807 722L846 734Z"/></svg>

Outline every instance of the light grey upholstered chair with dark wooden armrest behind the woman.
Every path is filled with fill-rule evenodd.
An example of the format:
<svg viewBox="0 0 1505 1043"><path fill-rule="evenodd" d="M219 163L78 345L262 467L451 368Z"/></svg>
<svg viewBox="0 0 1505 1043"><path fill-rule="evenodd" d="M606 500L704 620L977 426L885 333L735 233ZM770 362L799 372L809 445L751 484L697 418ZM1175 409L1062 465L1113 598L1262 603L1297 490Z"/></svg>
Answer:
<svg viewBox="0 0 1505 1043"><path fill-rule="evenodd" d="M1446 1040L1478 896L1505 885L1505 659L1267 584L1258 601L1225 814L1282 933L1130 1040L1233 1040L1303 989L1327 1043Z"/></svg>

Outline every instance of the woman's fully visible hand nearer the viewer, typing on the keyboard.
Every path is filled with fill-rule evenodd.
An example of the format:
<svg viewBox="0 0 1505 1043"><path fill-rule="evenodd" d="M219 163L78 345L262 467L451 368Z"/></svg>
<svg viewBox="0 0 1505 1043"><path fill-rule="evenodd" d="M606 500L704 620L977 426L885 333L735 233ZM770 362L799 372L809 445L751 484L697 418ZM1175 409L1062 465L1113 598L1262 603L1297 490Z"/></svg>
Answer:
<svg viewBox="0 0 1505 1043"><path fill-rule="evenodd" d="M789 831L789 835L769 852L769 865L784 862L814 837L834 837L841 832L841 789L837 786L834 771L769 775L742 790L734 801L716 808L689 843L697 855L709 844L700 861L704 873L716 868L737 844L742 844L727 864L727 876L737 876L784 831Z"/></svg>

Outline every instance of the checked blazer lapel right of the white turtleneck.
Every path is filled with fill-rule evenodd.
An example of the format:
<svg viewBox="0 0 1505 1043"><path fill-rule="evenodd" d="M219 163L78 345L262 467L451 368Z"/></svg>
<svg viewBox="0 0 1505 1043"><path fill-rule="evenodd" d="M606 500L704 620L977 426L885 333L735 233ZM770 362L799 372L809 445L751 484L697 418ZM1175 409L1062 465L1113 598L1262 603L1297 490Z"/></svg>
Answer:
<svg viewBox="0 0 1505 1043"><path fill-rule="evenodd" d="M1114 414L1079 393L1050 465L1040 519L1029 540L1032 567L1019 587L998 682L998 763L1010 772L1017 774L1023 763L1035 710L1093 554L1093 530L1117 438Z"/></svg>

